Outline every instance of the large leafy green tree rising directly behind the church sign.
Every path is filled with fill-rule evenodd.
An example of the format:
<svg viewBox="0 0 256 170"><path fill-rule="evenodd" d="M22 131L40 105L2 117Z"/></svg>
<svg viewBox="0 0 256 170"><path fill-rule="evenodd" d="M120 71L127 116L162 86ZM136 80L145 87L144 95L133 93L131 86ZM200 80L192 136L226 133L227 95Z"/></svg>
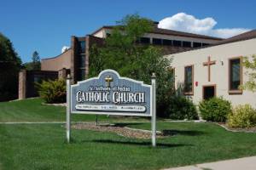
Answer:
<svg viewBox="0 0 256 170"><path fill-rule="evenodd" d="M138 44L137 41L146 32L152 31L152 20L137 14L127 15L117 22L111 36L106 38L104 46L94 45L90 51L89 77L96 77L105 69L118 71L122 77L130 77L151 83L153 72L157 76L157 111L164 114L173 92L171 61L163 57L160 48Z"/></svg>

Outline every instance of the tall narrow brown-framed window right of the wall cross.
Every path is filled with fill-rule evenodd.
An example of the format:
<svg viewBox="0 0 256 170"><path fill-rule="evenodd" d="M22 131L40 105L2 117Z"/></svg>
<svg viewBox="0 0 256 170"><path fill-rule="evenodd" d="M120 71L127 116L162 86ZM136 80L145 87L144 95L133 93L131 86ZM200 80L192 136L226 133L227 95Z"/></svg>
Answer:
<svg viewBox="0 0 256 170"><path fill-rule="evenodd" d="M242 84L241 58L230 59L229 63L229 93L242 94L241 89L239 89L239 86Z"/></svg>

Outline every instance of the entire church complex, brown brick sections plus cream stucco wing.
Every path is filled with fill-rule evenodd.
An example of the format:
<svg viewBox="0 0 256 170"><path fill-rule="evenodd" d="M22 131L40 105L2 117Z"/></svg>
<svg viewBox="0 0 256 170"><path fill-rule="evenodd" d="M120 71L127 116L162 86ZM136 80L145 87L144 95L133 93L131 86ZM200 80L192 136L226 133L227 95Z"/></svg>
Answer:
<svg viewBox="0 0 256 170"><path fill-rule="evenodd" d="M19 99L38 95L34 82L72 77L76 83L88 77L90 48L101 47L114 26L102 26L84 37L71 37L70 48L55 57L41 61L41 71L20 71ZM241 65L242 56L256 54L256 31L249 31L222 39L158 28L147 32L138 44L161 47L172 58L176 88L198 104L202 99L223 96L233 105L249 103L256 107L256 94L238 87L247 82L246 70Z"/></svg>

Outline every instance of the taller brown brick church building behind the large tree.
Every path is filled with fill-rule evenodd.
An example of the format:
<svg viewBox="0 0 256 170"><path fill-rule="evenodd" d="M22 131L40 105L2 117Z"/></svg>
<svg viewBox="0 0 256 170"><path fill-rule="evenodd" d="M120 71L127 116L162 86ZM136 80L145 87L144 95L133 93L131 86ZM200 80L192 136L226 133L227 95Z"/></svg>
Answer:
<svg viewBox="0 0 256 170"><path fill-rule="evenodd" d="M164 54L174 54L190 50L192 48L206 47L221 38L208 37L182 31L172 31L158 28L158 22L154 22L154 29L143 35L137 43L152 44L160 46ZM42 71L58 71L60 75L66 76L70 73L72 82L87 78L90 66L90 48L93 44L100 47L106 37L111 36L114 26L102 26L90 35L84 37L71 37L70 48L55 57L42 59Z"/></svg>

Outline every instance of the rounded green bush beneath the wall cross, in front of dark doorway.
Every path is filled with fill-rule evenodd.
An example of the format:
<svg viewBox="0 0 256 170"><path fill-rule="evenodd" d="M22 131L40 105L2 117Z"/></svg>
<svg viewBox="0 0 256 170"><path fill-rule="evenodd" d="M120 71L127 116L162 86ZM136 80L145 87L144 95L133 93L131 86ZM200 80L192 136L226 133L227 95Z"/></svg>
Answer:
<svg viewBox="0 0 256 170"><path fill-rule="evenodd" d="M225 122L231 112L231 104L223 98L212 98L201 101L199 111L204 120Z"/></svg>

